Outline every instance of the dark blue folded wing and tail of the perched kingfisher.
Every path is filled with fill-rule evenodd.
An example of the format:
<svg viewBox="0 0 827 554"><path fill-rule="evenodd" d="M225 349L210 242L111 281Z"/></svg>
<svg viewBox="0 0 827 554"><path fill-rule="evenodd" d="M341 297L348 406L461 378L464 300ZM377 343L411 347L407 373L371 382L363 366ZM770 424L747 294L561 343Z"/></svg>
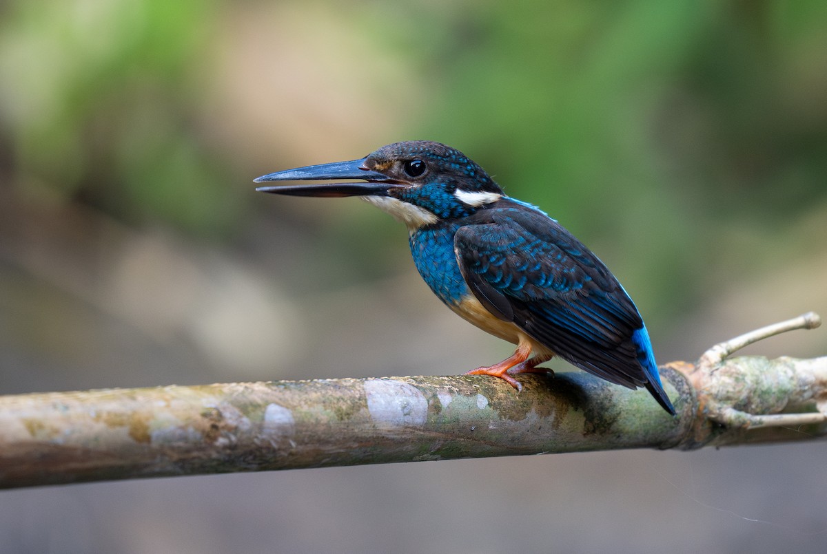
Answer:
<svg viewBox="0 0 827 554"><path fill-rule="evenodd" d="M643 320L623 286L543 212L500 201L457 230L462 277L485 308L577 367L618 385L646 386L674 413Z"/></svg>

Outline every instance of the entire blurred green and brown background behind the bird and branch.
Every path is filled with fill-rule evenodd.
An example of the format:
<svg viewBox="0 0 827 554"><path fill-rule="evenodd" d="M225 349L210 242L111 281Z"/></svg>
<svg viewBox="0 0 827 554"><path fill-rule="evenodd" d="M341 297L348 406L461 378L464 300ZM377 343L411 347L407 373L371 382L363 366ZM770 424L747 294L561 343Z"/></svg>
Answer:
<svg viewBox="0 0 827 554"><path fill-rule="evenodd" d="M510 352L401 225L252 178L438 140L619 276L659 359L827 315L827 2L0 2L0 393ZM827 353L825 331L750 349ZM564 364L552 367L565 368ZM791 435L796 430L791 429ZM825 552L825 447L0 492L2 552Z"/></svg>

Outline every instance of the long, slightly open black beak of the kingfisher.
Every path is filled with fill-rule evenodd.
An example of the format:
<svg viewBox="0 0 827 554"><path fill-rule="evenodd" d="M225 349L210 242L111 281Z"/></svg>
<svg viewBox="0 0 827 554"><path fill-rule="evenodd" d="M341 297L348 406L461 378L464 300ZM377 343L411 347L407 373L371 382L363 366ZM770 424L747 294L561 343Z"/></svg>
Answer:
<svg viewBox="0 0 827 554"><path fill-rule="evenodd" d="M370 171L364 166L365 159L351 162L322 163L306 168L288 169L262 175L253 182L267 181L326 181L328 179L364 179L368 182L327 182L307 185L279 187L258 187L256 191L287 194L293 197L370 197L384 196L391 187L399 186L398 181L382 173Z"/></svg>

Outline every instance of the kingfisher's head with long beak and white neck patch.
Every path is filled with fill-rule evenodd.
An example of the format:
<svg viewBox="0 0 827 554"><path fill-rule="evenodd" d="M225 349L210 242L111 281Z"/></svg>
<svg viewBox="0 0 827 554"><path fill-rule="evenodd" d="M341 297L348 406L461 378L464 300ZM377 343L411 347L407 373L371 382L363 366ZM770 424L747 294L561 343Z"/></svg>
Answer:
<svg viewBox="0 0 827 554"><path fill-rule="evenodd" d="M256 182L329 181L259 187L262 192L300 197L362 197L394 215L409 229L471 215L504 196L479 165L445 144L413 140L388 144L365 158L270 173Z"/></svg>

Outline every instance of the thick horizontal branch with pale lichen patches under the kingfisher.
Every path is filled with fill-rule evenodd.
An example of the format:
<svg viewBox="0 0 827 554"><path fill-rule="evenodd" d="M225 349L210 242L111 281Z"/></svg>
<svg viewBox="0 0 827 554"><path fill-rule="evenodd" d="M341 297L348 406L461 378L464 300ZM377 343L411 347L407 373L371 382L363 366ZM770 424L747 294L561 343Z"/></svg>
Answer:
<svg viewBox="0 0 827 554"><path fill-rule="evenodd" d="M583 372L520 376L519 394L486 376L419 376L3 396L0 487L821 438L827 357L729 358L818 323L804 315L662 367L676 418Z"/></svg>

